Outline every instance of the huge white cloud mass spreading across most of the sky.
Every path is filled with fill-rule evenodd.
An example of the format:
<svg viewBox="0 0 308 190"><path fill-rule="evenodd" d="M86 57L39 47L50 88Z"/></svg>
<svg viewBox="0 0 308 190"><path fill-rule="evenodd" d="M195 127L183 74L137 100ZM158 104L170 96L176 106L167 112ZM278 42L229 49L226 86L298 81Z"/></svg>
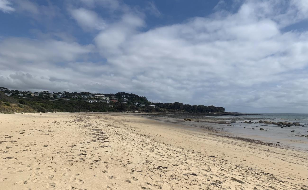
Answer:
<svg viewBox="0 0 308 190"><path fill-rule="evenodd" d="M134 11L99 28L99 15L75 9L72 15L80 26L99 30L96 48L71 41L4 39L0 86L126 91L153 101L228 111L308 112L308 32L282 31L307 18L299 2L249 0L236 13L217 12L148 31L143 31L143 15Z"/></svg>

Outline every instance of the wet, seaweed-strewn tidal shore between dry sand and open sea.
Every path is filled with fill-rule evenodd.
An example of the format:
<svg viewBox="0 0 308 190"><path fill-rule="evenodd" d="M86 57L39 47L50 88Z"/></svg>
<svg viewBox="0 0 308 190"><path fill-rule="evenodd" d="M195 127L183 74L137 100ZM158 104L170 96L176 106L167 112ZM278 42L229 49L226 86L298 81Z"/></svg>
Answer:
<svg viewBox="0 0 308 190"><path fill-rule="evenodd" d="M196 128L201 128L205 130L209 130L213 133L213 135L224 136L228 138L236 138L238 140L254 142L257 144L263 144L273 147L280 147L284 149L295 149L295 150L304 150L308 151L308 138L307 137L299 137L299 134L296 133L298 137L293 138L293 136L277 136L273 133L273 129L276 130L279 126L271 126L271 125L259 125L256 126L254 124L246 124L239 121L245 121L242 118L214 118L214 117L192 117L194 121L184 121L184 117L178 117L177 115L168 115L168 116L155 116L155 115L142 115L139 116L160 120L166 123L177 123L180 125L189 125ZM260 120L260 118L249 118L248 120ZM240 127L241 126L241 127ZM243 129L243 127L247 129ZM265 130L260 133L259 128L265 127ZM276 128L275 128L276 127ZM256 128L255 130L251 130L251 128ZM280 127L279 127L280 129ZM193 129L192 129L193 130ZM278 131L279 132L279 131ZM305 130L303 130L305 132ZM293 135L293 133L290 133ZM289 133L282 134L289 135Z"/></svg>

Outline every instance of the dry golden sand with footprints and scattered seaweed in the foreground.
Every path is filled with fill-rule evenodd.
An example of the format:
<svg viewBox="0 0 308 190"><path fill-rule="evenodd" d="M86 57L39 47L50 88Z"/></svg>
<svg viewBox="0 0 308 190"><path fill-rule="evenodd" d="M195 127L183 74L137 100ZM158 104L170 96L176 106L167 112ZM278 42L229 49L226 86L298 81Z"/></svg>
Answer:
<svg viewBox="0 0 308 190"><path fill-rule="evenodd" d="M0 189L302 189L308 153L133 114L0 114Z"/></svg>

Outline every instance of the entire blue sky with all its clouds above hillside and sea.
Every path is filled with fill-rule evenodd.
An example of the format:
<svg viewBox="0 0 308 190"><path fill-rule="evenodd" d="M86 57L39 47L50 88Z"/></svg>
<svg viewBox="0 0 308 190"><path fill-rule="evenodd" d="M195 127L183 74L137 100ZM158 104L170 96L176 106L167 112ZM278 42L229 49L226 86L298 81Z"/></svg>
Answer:
<svg viewBox="0 0 308 190"><path fill-rule="evenodd" d="M0 87L308 113L308 3L0 0Z"/></svg>

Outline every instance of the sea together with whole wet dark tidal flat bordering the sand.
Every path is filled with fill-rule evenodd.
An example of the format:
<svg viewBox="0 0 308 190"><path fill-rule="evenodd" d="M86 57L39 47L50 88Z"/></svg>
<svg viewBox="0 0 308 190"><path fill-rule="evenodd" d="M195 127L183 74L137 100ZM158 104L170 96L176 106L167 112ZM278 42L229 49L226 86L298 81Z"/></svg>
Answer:
<svg viewBox="0 0 308 190"><path fill-rule="evenodd" d="M273 143L279 146L286 146L297 150L308 151L308 114L295 113L256 113L257 116L202 116L201 114L153 114L145 117L172 122L185 126L192 126L204 129L216 129L219 134L232 137L249 138ZM208 120L210 122L227 122L228 124L217 124L208 122L184 122L184 118L193 118L194 120ZM257 123L263 121L287 121L300 123L300 126L281 128L274 124ZM244 121L252 121L252 124L243 123ZM245 128L244 128L245 127ZM260 130L263 128L265 130ZM187 128L188 129L188 128ZM194 130L194 128L189 128ZM211 133L216 133L214 130ZM294 132L291 132L294 131Z"/></svg>

